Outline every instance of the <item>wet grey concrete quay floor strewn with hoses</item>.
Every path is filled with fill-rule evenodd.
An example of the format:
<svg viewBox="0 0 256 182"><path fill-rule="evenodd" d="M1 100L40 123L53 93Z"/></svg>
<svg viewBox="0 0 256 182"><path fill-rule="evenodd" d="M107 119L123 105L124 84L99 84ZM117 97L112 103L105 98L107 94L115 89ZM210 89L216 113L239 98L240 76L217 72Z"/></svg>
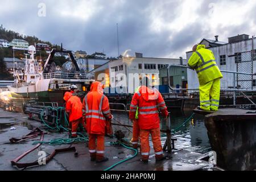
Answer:
<svg viewBox="0 0 256 182"><path fill-rule="evenodd" d="M11 116L11 117L10 117ZM114 115L115 116L115 115ZM125 115L117 115L116 119L122 119ZM126 122L126 119L124 120ZM128 122L128 121L127 121ZM10 126L7 127L6 124ZM125 123L124 123L125 124ZM127 123L130 124L130 123ZM27 115L22 113L9 113L0 109L0 125L5 125L0 129L0 170L18 170L11 166L10 161L23 154L30 148L34 147L33 142L38 141L40 136L34 139L27 140L19 144L10 144L10 138L20 138L31 132L33 127L39 127L43 129L43 125L38 121L28 120ZM14 126L16 130L10 130L10 127ZM114 128L114 130L121 129L121 126ZM121 129L122 130L122 129ZM46 131L47 132L47 131ZM126 131L126 137L129 138L131 135ZM68 133L47 133L44 135L44 141L49 141L53 138L68 138ZM115 142L116 139L110 139L105 137L105 142ZM31 167L24 170L35 170L35 171L65 171L65 170L79 170L79 171L98 171L104 170L120 160L129 158L133 155L134 151L128 150L122 146L106 146L105 156L109 158L108 162L96 164L90 161L90 155L88 148L85 143L73 143L73 144L62 144L59 146L50 146L48 144L42 144L38 149L25 156L21 163L35 162L39 159L39 151L46 152L47 155L51 154L56 148L67 148L75 146L79 156L76 158L74 152L65 152L57 154L48 164ZM203 154L199 154L188 150L176 150L170 156L168 160L162 162L155 162L154 150L151 148L150 160L148 164L141 163L140 155L138 154L135 158L128 160L125 163L119 164L113 168L114 171L175 171L175 170L196 170L204 167L204 170L211 170L208 162L198 160L205 157Z"/></svg>

